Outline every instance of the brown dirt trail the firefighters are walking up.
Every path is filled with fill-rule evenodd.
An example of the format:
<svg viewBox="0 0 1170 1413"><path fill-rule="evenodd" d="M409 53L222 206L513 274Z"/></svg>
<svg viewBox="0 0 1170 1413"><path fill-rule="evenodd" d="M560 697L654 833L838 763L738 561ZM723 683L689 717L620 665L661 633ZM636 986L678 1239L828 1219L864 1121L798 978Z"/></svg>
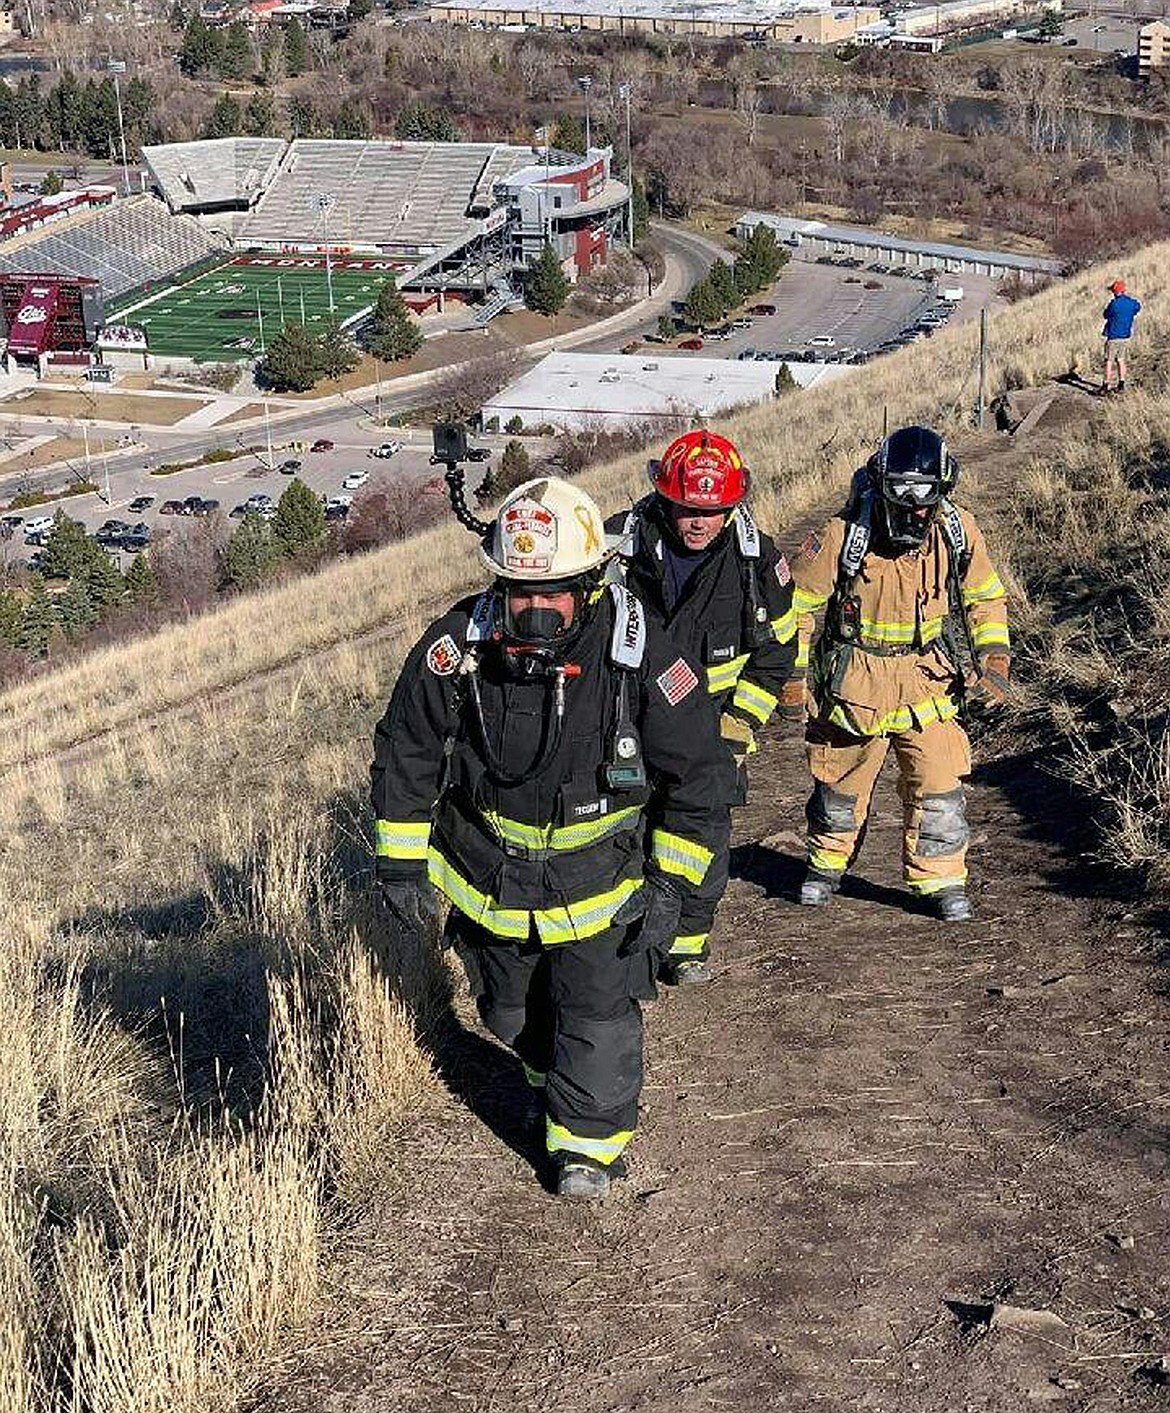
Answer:
<svg viewBox="0 0 1170 1413"><path fill-rule="evenodd" d="M979 920L944 928L907 910L889 776L845 896L794 906L807 774L770 736L719 978L647 1007L629 1180L551 1198L516 1067L468 1029L263 1407L1164 1407L1162 918L1078 858L1043 760L979 753ZM1060 1323L988 1330L991 1301Z"/></svg>

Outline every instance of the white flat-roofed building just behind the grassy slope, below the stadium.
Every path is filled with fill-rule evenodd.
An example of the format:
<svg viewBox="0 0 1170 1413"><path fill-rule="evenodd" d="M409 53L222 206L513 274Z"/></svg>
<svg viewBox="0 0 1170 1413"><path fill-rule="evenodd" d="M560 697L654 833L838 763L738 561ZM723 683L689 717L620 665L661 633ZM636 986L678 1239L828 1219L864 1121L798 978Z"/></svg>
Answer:
<svg viewBox="0 0 1170 1413"><path fill-rule="evenodd" d="M490 403L485 427L558 431L671 428L776 394L779 363L671 353L550 353ZM805 387L849 372L824 363L788 365Z"/></svg>

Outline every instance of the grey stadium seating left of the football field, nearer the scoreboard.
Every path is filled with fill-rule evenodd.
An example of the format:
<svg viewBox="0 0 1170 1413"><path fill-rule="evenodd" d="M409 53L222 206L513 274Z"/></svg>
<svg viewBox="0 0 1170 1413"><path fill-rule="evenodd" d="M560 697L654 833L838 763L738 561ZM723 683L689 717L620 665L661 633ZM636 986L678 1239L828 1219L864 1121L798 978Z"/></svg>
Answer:
<svg viewBox="0 0 1170 1413"><path fill-rule="evenodd" d="M167 280L220 244L189 216L172 216L153 196L131 196L93 216L0 246L0 273L89 276L114 300Z"/></svg>

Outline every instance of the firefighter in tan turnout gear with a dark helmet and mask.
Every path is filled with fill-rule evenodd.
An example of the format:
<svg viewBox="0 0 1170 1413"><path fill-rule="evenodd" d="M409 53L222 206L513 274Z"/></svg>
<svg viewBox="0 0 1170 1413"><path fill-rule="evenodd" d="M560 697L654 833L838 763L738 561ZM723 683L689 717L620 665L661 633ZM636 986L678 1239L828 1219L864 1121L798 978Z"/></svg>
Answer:
<svg viewBox="0 0 1170 1413"><path fill-rule="evenodd" d="M971 747L957 718L965 698L1005 699L1010 647L1006 593L983 536L971 512L947 499L957 480L958 462L937 432L902 428L858 473L844 512L793 561L814 781L804 904L837 892L893 749L906 883L944 921L972 916L962 788ZM783 695L797 704L804 681Z"/></svg>

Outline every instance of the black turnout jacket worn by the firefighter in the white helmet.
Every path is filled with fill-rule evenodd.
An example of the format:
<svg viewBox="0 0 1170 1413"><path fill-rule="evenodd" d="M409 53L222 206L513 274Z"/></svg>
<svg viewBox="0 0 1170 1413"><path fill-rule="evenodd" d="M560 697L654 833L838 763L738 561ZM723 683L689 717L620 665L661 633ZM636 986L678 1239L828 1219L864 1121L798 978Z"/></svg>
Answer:
<svg viewBox="0 0 1170 1413"><path fill-rule="evenodd" d="M633 595L609 586L568 651L579 671L562 680L557 739L555 680L527 675L490 634L476 643L488 603L465 599L422 634L376 729L379 877L425 872L488 931L523 941L534 927L545 945L605 931L646 873L664 875L685 900L726 846L733 784L698 668L646 623ZM615 666L615 649L639 636L639 664ZM644 787L608 783L606 766L622 763L622 681Z"/></svg>

